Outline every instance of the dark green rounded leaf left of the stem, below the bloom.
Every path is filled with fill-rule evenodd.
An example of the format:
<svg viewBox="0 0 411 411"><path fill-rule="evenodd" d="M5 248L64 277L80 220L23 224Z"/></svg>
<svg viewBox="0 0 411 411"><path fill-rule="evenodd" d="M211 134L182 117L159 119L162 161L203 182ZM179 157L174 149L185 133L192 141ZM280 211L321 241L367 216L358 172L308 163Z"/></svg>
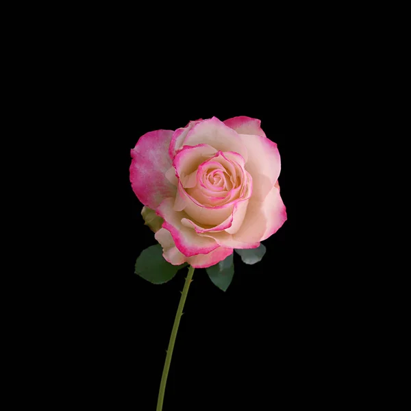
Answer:
<svg viewBox="0 0 411 411"><path fill-rule="evenodd" d="M172 279L187 263L173 266L164 260L160 244L143 250L136 260L136 274L153 284L163 284Z"/></svg>

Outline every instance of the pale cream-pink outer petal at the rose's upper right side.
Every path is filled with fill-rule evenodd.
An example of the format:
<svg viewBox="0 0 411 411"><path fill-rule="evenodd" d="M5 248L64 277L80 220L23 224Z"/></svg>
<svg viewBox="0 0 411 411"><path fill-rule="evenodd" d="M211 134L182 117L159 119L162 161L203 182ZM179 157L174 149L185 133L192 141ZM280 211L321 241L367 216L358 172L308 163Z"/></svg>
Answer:
<svg viewBox="0 0 411 411"><path fill-rule="evenodd" d="M245 169L253 177L253 197L262 201L270 192L281 171L275 142L264 136L238 134L249 153Z"/></svg>

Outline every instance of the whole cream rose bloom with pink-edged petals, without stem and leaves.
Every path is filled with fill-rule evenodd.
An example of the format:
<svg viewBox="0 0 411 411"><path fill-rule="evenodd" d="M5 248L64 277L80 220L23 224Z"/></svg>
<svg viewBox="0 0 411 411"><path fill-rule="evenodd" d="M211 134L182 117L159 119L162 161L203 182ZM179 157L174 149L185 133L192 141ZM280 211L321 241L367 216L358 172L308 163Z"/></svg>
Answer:
<svg viewBox="0 0 411 411"><path fill-rule="evenodd" d="M279 152L260 123L190 121L144 134L132 149L132 188L164 220L155 239L171 264L212 266L233 249L258 247L286 221Z"/></svg>

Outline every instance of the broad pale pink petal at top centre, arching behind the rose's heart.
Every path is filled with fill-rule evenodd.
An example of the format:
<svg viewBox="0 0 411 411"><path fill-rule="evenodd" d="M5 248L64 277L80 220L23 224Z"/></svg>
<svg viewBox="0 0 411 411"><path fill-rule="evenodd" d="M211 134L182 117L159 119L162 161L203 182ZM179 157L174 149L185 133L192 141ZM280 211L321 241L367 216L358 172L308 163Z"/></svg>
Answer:
<svg viewBox="0 0 411 411"><path fill-rule="evenodd" d="M235 151L247 162L247 149L238 134L216 117L195 124L183 142L190 146L199 144L208 144L221 151Z"/></svg>

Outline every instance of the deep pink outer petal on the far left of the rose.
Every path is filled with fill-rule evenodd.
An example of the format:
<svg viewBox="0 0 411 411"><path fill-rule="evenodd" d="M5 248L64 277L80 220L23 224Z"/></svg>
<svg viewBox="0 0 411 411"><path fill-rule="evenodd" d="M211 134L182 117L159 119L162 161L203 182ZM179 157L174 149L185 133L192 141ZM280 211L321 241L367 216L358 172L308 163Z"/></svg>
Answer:
<svg viewBox="0 0 411 411"><path fill-rule="evenodd" d="M149 132L131 151L130 182L138 199L149 208L156 208L166 197L175 197L176 188L166 179L172 166L167 151L172 136L171 130Z"/></svg>

